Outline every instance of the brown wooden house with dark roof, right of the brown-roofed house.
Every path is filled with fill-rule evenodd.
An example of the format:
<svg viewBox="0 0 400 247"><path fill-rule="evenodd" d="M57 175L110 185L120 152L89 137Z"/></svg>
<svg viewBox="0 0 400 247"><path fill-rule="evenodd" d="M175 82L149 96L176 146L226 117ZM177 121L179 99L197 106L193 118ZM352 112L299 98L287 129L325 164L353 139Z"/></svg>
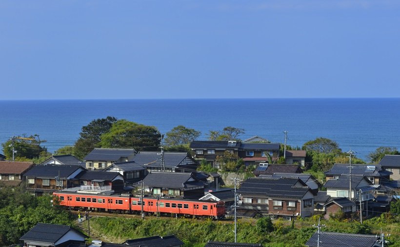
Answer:
<svg viewBox="0 0 400 247"><path fill-rule="evenodd" d="M74 187L73 179L82 171L85 171L83 167L74 165L35 166L24 174L26 190L42 195Z"/></svg>

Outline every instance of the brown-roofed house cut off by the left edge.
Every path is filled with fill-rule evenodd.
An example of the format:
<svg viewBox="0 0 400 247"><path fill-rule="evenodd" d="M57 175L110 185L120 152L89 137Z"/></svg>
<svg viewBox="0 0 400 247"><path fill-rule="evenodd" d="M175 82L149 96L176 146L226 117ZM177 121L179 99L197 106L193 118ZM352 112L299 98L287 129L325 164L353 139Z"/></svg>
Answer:
<svg viewBox="0 0 400 247"><path fill-rule="evenodd" d="M32 167L32 162L0 161L0 187L20 185L23 175Z"/></svg>

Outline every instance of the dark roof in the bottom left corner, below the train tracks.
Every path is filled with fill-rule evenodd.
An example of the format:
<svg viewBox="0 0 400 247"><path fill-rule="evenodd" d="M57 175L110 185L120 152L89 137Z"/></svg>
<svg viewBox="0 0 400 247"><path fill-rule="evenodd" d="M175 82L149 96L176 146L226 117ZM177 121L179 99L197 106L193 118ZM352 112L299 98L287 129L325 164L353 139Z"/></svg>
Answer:
<svg viewBox="0 0 400 247"><path fill-rule="evenodd" d="M62 236L64 236L70 230L76 231L70 226L55 225L55 224L44 224L38 223L27 233L25 233L20 240L25 241L38 241L44 243L55 244ZM79 233L78 231L76 231ZM84 238L85 235L79 233Z"/></svg>

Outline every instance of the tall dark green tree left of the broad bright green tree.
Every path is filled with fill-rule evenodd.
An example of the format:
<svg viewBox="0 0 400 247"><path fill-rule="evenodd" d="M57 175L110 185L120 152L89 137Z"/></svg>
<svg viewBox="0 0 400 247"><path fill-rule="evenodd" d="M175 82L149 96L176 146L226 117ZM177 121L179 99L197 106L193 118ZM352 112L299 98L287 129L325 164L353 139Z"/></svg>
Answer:
<svg viewBox="0 0 400 247"><path fill-rule="evenodd" d="M107 116L92 120L88 125L82 127L80 137L75 142L75 156L82 159L94 148L100 147L101 135L110 131L112 125L117 122L117 118Z"/></svg>

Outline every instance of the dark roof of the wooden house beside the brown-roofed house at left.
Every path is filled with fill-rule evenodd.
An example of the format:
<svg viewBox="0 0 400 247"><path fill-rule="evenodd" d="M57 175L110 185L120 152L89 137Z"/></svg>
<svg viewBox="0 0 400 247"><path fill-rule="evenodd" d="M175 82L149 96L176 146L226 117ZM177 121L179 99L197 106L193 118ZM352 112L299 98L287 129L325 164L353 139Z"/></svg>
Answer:
<svg viewBox="0 0 400 247"><path fill-rule="evenodd" d="M80 166L50 164L35 166L31 170L27 171L24 176L54 178L60 175L60 178L66 178L77 170L83 171L84 169Z"/></svg>

